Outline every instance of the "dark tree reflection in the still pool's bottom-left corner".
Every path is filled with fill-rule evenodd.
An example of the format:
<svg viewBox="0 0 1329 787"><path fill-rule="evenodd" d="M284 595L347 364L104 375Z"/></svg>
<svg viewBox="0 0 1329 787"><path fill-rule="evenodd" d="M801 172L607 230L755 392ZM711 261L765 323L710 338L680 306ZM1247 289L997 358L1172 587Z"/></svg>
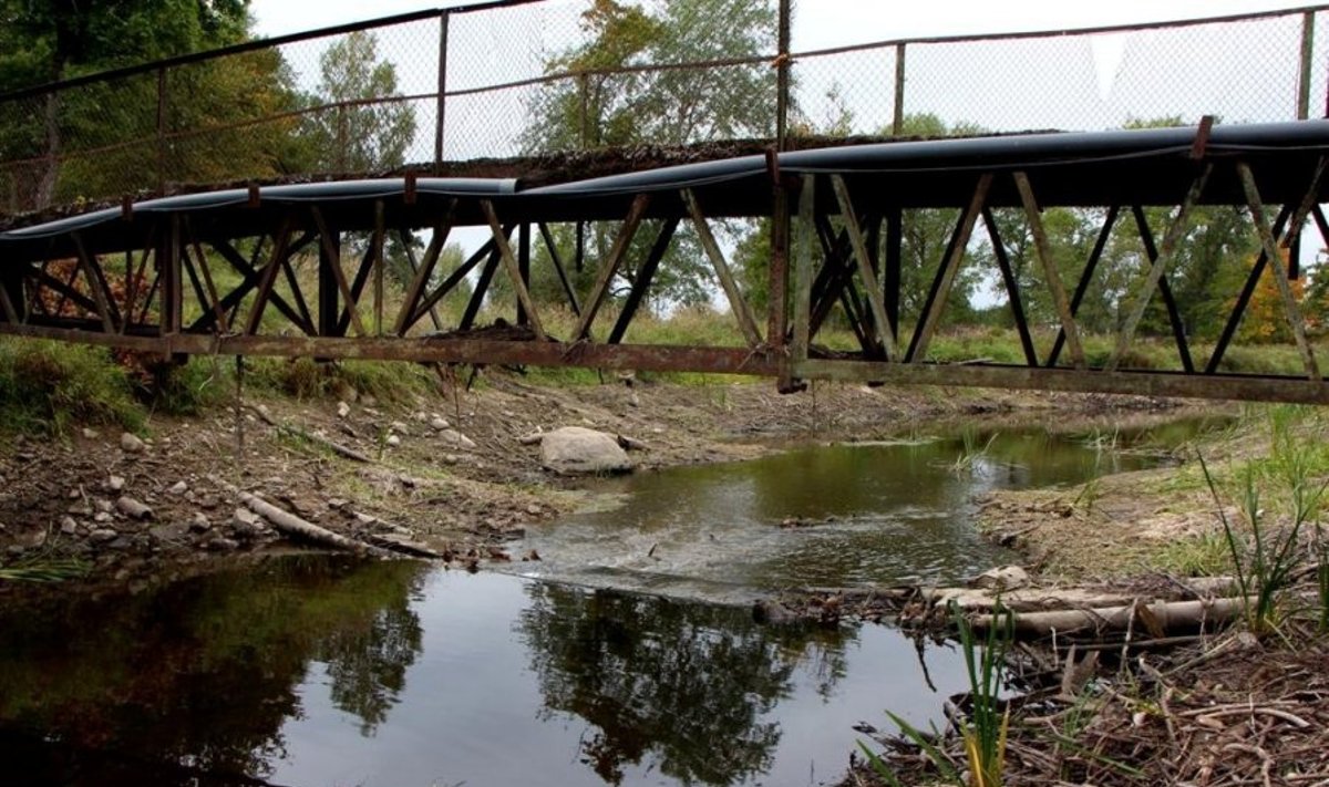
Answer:
<svg viewBox="0 0 1329 787"><path fill-rule="evenodd" d="M311 662L363 730L384 721L420 651L409 593L423 570L287 558L137 596L11 605L0 751L32 783L267 776Z"/></svg>

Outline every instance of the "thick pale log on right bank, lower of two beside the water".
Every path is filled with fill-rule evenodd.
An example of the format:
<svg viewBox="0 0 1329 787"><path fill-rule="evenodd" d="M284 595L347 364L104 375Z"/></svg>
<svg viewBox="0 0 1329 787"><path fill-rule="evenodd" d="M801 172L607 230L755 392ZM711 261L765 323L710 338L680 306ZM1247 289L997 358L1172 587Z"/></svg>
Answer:
<svg viewBox="0 0 1329 787"><path fill-rule="evenodd" d="M1116 629L1134 625L1142 629L1158 626L1162 631L1193 629L1201 623L1227 622L1240 614L1241 598L1215 598L1209 601L1159 601L1155 604L1128 604L1099 609L1062 609L1051 612L1015 612L1014 627L1018 634L1046 635L1082 630ZM1001 621L1005 616L1001 617ZM975 629L986 630L1001 623L997 616L981 614L970 618Z"/></svg>

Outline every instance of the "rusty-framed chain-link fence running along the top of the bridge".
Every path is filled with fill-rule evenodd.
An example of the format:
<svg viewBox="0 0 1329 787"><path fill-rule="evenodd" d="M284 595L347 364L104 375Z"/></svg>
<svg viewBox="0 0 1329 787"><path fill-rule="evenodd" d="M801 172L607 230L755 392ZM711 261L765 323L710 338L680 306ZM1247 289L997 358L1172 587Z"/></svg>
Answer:
<svg viewBox="0 0 1329 787"><path fill-rule="evenodd" d="M493 3L0 96L0 210L619 145L1325 113L1329 5L800 52L819 11L791 3Z"/></svg>

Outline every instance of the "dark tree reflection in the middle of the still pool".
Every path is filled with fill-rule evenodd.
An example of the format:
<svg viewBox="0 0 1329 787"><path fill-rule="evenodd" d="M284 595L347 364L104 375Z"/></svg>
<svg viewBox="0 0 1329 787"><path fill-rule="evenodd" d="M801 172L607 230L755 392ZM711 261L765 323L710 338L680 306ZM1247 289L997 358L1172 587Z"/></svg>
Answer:
<svg viewBox="0 0 1329 787"><path fill-rule="evenodd" d="M605 590L528 592L520 626L546 714L594 727L582 762L611 784L647 752L683 784L763 774L781 736L768 714L795 667L815 655L823 695L844 674L836 631L758 627L740 610Z"/></svg>

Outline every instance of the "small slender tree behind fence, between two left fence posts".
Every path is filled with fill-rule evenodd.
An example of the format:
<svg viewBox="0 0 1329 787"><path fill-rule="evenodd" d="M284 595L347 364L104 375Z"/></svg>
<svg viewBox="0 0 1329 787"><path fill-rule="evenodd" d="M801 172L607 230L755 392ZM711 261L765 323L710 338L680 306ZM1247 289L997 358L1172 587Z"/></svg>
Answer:
<svg viewBox="0 0 1329 787"><path fill-rule="evenodd" d="M383 101L400 93L396 68L379 60L377 48L372 32L356 31L319 57L322 80L310 102L328 109L312 116L307 134L319 169L369 171L405 162L415 113L409 104Z"/></svg>

